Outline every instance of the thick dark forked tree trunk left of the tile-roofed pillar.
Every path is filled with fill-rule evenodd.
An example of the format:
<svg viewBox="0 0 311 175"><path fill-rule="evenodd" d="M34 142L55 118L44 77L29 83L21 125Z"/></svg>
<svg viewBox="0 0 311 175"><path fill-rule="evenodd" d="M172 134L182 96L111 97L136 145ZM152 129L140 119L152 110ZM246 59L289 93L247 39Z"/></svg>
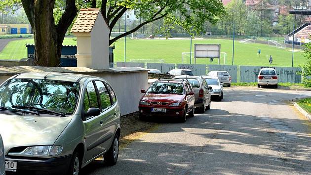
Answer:
<svg viewBox="0 0 311 175"><path fill-rule="evenodd" d="M62 16L55 24L55 0L21 0L35 37L35 64L57 66L62 43L78 9L75 0L66 0Z"/></svg>

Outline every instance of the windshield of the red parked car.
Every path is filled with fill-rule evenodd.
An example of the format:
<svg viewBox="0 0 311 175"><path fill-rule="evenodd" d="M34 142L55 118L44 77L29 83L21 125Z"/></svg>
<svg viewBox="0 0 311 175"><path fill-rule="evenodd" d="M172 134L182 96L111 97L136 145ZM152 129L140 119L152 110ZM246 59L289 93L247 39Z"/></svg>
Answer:
<svg viewBox="0 0 311 175"><path fill-rule="evenodd" d="M156 82L150 86L147 92L183 94L184 86L181 83Z"/></svg>

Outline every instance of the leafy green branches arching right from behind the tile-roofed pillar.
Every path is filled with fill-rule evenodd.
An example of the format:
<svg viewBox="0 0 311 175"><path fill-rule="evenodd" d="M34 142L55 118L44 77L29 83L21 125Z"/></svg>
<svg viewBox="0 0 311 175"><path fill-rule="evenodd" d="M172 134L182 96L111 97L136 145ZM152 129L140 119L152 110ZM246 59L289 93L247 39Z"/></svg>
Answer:
<svg viewBox="0 0 311 175"><path fill-rule="evenodd" d="M215 24L215 17L225 13L220 0L102 0L101 11L109 24L110 35L117 21L130 10L135 10L136 17L144 20L126 33L110 39L109 44L162 18L182 26L188 33L199 34L205 21ZM175 15L176 12L180 12L180 16Z"/></svg>

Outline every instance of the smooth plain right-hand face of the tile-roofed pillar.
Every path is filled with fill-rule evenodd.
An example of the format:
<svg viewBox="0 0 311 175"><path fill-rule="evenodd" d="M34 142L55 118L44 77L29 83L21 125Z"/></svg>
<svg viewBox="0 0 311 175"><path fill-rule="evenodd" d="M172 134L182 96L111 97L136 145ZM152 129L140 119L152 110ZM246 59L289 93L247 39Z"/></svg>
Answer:
<svg viewBox="0 0 311 175"><path fill-rule="evenodd" d="M104 17L101 13L99 13L91 31L91 68L109 68L109 32L110 30L104 20Z"/></svg>

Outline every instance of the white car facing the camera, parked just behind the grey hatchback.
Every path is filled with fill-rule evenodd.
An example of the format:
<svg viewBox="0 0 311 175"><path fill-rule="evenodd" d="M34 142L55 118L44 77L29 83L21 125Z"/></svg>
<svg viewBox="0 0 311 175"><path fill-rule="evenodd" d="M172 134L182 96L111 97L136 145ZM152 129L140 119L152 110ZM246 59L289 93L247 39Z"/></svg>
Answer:
<svg viewBox="0 0 311 175"><path fill-rule="evenodd" d="M212 87L210 89L211 97L216 98L221 101L224 98L224 88L223 84L220 83L217 77L210 77L210 76L201 76L203 80L207 83L208 87Z"/></svg>

